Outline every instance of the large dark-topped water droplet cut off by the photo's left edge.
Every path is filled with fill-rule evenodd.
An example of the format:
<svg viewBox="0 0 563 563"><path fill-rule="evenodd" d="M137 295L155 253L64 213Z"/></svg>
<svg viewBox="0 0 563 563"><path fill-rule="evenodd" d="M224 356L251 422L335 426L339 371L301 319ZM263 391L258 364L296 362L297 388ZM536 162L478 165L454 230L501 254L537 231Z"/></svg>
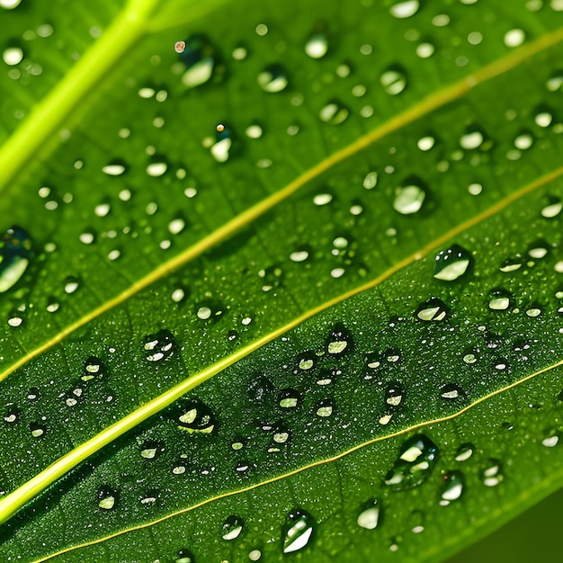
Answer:
<svg viewBox="0 0 563 563"><path fill-rule="evenodd" d="M0 293L22 278L31 258L31 237L13 225L0 239Z"/></svg>

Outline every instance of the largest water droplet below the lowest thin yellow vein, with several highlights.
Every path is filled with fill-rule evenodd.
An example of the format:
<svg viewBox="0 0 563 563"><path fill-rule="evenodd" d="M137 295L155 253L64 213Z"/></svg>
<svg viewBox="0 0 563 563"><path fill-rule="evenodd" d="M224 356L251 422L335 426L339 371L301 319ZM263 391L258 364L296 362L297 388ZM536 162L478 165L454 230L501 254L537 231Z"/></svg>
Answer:
<svg viewBox="0 0 563 563"><path fill-rule="evenodd" d="M398 460L389 470L385 484L402 491L424 483L436 464L438 448L426 436L420 434L407 440L401 447Z"/></svg>

